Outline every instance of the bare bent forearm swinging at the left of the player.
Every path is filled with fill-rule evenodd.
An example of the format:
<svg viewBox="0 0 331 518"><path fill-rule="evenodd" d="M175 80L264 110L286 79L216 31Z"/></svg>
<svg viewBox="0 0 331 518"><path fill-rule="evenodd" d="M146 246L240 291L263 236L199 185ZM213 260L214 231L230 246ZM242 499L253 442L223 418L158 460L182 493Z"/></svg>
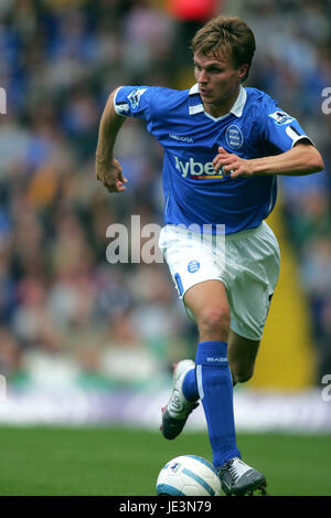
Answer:
<svg viewBox="0 0 331 518"><path fill-rule="evenodd" d="M114 158L116 137L125 120L114 108L114 98L118 89L109 95L104 108L96 149L96 177L109 192L125 191L125 183L128 181L122 176L119 161Z"/></svg>

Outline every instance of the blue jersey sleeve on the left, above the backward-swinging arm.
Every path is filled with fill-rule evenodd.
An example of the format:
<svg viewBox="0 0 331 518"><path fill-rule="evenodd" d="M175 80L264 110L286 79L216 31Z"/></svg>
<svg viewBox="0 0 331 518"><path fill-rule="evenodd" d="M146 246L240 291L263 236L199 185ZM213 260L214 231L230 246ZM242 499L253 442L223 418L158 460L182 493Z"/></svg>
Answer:
<svg viewBox="0 0 331 518"><path fill-rule="evenodd" d="M115 112L124 117L139 117L149 121L152 96L152 86L121 86L114 97Z"/></svg>

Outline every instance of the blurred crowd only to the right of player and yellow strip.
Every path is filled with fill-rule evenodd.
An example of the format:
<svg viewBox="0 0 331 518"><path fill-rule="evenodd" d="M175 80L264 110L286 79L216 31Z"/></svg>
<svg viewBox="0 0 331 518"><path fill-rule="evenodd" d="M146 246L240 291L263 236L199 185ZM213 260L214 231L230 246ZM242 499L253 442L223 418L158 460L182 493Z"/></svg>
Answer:
<svg viewBox="0 0 331 518"><path fill-rule="evenodd" d="M331 86L331 2L248 0L243 15L260 44L252 84L299 119L325 163L317 175L279 178L279 201L311 314L319 383L331 372L331 113L323 94Z"/></svg>

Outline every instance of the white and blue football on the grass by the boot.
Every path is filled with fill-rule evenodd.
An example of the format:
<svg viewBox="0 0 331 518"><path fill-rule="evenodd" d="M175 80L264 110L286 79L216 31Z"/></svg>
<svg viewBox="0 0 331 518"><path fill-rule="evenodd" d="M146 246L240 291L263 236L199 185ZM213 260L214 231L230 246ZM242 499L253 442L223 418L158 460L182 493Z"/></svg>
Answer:
<svg viewBox="0 0 331 518"><path fill-rule="evenodd" d="M221 496L221 482L214 466L197 455L169 461L159 473L158 496Z"/></svg>

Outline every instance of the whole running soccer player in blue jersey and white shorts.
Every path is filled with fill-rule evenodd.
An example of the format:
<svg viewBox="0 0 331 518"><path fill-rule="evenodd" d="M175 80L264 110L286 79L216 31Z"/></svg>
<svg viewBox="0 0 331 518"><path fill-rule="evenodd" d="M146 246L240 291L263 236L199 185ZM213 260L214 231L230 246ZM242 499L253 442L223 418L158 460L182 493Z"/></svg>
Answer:
<svg viewBox="0 0 331 518"><path fill-rule="evenodd" d="M295 117L243 86L255 52L244 21L209 21L192 51L190 89L121 86L110 94L96 176L109 192L127 189L114 145L125 117L143 118L164 149L160 247L199 330L195 362L174 369L161 431L178 436L201 400L222 488L246 495L264 490L266 479L242 461L233 385L253 376L279 274L278 243L264 220L276 202L277 175L321 171L323 160Z"/></svg>

